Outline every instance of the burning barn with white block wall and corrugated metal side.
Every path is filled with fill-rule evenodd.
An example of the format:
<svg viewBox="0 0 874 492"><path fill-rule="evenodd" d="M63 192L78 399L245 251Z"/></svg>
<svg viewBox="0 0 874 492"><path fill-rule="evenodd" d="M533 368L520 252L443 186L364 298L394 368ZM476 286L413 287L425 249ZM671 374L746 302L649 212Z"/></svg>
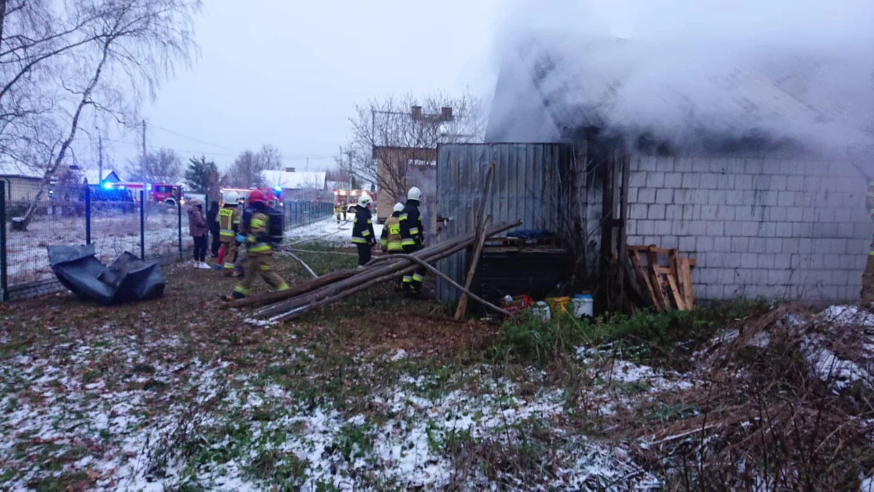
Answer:
<svg viewBox="0 0 874 492"><path fill-rule="evenodd" d="M621 58L624 46L607 42L593 57ZM870 155L871 136L858 133L856 122L829 127L862 144L854 155L815 152L809 142L757 128L709 128L695 118L683 128L659 127L645 115L638 123L616 100L621 77L599 76L593 66L568 69L567 59L536 45L516 56L503 65L486 143L438 151L438 239L472 230L483 177L495 164L493 221L518 218L521 229L557 242L544 256L517 252L516 261L487 246L474 288L495 297L570 282L611 301L628 287L627 246L655 245L692 260L697 300L858 298L872 229L868 162L859 157ZM727 91L721 114L763 114L771 104L784 119L839 120L829 111L840 104L805 100L796 91L803 84L792 77L762 81L749 71L732 77L733 86L720 87ZM874 108L871 95L861 103ZM739 109L732 113L725 104ZM716 111L697 108L704 117ZM495 246L506 250L504 243ZM540 260L549 255L554 269ZM459 256L440 269L463 281L467 265ZM533 280L538 276L543 282ZM444 284L438 294L456 296Z"/></svg>

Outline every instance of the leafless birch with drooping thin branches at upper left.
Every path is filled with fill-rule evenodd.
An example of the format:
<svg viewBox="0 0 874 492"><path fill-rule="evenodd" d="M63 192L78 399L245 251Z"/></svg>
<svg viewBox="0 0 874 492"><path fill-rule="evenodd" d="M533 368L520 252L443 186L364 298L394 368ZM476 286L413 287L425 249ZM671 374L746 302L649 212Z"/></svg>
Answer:
<svg viewBox="0 0 874 492"><path fill-rule="evenodd" d="M87 115L135 121L143 96L197 52L199 0L0 2L0 156L43 174L24 225Z"/></svg>

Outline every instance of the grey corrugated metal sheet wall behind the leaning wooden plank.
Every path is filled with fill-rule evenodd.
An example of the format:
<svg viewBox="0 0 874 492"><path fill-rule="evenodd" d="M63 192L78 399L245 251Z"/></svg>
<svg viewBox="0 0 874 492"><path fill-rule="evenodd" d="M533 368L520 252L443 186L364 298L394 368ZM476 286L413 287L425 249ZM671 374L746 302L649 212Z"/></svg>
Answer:
<svg viewBox="0 0 874 492"><path fill-rule="evenodd" d="M563 170L572 155L559 143L472 143L441 145L437 152L437 241L475 232L475 215L482 199L486 171L495 164L495 177L486 204L492 224L522 220L523 229L558 232L567 220ZM462 283L468 253L462 252L437 267ZM458 292L437 280L437 299L455 301Z"/></svg>

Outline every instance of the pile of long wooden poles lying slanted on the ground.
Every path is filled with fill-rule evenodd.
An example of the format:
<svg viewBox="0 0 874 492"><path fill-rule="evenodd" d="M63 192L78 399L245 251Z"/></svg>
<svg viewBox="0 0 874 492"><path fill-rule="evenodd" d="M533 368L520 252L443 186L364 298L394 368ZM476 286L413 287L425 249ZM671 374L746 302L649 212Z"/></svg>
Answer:
<svg viewBox="0 0 874 492"><path fill-rule="evenodd" d="M488 238L501 232L509 231L518 225L520 225L519 222L495 225L487 229L484 236ZM471 294L467 289L462 288L432 266L437 260L442 260L465 248L474 246L475 242L476 237L474 234L471 234L440 243L439 245L428 246L409 255L391 254L380 256L371 260L371 263L364 269L333 272L302 283L285 292L275 292L232 301L226 303L224 307L239 308L266 304L255 309L253 317L265 318L268 322L278 322L305 315L313 309L321 308L350 295L355 295L379 282L391 281L398 278L399 275L411 274L417 267L426 267L443 280L448 281L450 285L467 293L471 299L482 302L499 313L509 315L503 309Z"/></svg>

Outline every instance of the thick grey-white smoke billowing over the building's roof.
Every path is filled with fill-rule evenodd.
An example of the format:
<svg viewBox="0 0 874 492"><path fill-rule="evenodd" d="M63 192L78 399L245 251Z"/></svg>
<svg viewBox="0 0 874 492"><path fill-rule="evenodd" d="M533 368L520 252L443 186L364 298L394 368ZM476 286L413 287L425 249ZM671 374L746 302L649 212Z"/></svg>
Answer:
<svg viewBox="0 0 874 492"><path fill-rule="evenodd" d="M715 141L874 149L871 0L509 4L489 127L515 125L511 139L555 135L544 128L551 123L520 127L540 121L513 110L533 91L559 128L649 135L675 149Z"/></svg>

